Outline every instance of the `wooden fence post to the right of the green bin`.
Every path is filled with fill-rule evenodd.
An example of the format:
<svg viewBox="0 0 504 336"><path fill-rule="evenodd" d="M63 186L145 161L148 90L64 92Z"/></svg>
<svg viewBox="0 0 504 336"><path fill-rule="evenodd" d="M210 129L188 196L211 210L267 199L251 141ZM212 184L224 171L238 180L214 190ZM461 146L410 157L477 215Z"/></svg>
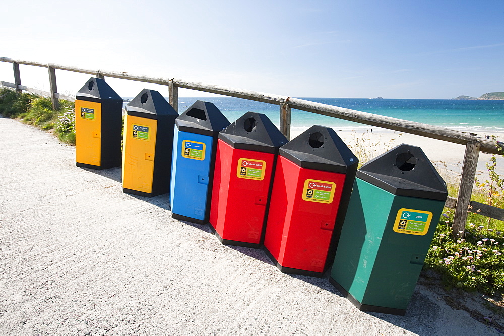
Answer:
<svg viewBox="0 0 504 336"><path fill-rule="evenodd" d="M455 213L453 215L452 234L457 236L459 231L465 231L468 205L471 202L471 194L474 185L474 176L476 175L476 165L478 164L479 142L468 142L462 163L462 176L460 177L460 187L455 204Z"/></svg>

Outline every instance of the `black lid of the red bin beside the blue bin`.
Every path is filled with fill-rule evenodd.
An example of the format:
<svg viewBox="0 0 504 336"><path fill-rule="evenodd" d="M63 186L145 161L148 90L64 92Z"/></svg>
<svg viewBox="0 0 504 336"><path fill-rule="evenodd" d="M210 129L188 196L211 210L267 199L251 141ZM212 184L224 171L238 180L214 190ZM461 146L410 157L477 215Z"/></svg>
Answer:
<svg viewBox="0 0 504 336"><path fill-rule="evenodd" d="M263 113L248 111L219 133L219 139L236 149L277 153L288 142Z"/></svg>

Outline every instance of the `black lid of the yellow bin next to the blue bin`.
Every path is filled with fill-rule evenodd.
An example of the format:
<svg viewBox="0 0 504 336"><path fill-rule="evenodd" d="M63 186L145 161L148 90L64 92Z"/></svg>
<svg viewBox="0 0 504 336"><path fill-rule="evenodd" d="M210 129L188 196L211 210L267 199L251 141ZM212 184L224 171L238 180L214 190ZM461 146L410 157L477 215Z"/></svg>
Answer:
<svg viewBox="0 0 504 336"><path fill-rule="evenodd" d="M177 111L156 90L144 89L126 105L129 116L158 119L159 116L178 117Z"/></svg>

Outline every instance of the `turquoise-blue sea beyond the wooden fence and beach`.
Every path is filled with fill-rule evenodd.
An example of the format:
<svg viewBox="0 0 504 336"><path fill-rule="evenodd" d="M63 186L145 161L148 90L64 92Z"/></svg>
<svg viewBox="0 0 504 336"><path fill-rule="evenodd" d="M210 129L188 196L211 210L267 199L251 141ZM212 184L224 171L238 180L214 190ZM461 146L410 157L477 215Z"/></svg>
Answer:
<svg viewBox="0 0 504 336"><path fill-rule="evenodd" d="M133 97L124 97L132 99ZM454 130L477 133L504 132L504 101L455 99L368 99L368 98L302 98L377 115L416 121ZM278 105L234 97L179 97L182 113L196 100L214 103L233 122L247 111L266 114L279 125ZM124 103L125 105L126 103ZM372 126L292 109L291 130L302 131L312 125L323 125L338 130L369 130Z"/></svg>

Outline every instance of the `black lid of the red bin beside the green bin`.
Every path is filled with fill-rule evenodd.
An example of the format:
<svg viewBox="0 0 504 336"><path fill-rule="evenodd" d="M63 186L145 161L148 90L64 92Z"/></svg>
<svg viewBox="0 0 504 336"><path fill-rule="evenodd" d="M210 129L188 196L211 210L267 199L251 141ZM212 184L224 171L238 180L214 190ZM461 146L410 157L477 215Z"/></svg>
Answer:
<svg viewBox="0 0 504 336"><path fill-rule="evenodd" d="M302 168L346 173L357 169L359 160L330 128L314 125L280 147L281 156Z"/></svg>

